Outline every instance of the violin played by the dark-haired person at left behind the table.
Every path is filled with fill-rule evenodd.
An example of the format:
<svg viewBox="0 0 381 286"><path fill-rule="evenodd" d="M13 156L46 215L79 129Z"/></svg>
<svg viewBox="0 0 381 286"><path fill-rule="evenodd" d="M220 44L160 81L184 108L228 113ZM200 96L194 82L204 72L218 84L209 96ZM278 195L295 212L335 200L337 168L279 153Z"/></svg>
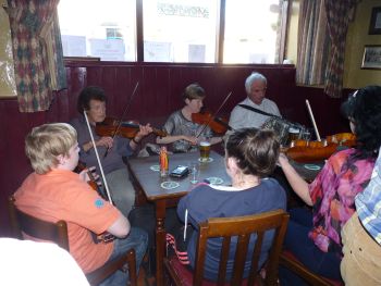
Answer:
<svg viewBox="0 0 381 286"><path fill-rule="evenodd" d="M114 135L120 135L122 137L132 139L139 132L139 123L136 121L122 122L120 127L119 125L119 120L115 120L113 117L106 117L103 122L97 123L96 133L98 136L113 137ZM159 137L167 136L165 132L158 128L152 128L152 132Z"/></svg>

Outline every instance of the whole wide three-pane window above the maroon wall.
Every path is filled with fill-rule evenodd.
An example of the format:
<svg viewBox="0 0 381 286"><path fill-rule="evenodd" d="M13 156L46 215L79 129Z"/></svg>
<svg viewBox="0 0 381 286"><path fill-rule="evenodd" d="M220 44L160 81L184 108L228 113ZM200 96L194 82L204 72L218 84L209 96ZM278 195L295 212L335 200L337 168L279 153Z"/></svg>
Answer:
<svg viewBox="0 0 381 286"><path fill-rule="evenodd" d="M63 53L103 61L278 63L284 2L62 0Z"/></svg>

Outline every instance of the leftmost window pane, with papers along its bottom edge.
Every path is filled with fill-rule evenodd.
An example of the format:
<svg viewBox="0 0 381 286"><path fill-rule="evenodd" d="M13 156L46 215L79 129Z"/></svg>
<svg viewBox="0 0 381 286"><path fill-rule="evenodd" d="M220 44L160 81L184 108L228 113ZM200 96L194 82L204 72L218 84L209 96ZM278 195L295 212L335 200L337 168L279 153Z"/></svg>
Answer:
<svg viewBox="0 0 381 286"><path fill-rule="evenodd" d="M135 0L61 0L63 55L136 61Z"/></svg>

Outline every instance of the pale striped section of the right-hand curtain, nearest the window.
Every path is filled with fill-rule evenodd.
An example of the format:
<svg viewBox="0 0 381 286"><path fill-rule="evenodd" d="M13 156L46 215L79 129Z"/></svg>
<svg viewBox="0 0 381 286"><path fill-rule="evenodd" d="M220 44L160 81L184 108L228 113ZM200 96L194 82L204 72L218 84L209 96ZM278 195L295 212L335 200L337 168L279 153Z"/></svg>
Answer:
<svg viewBox="0 0 381 286"><path fill-rule="evenodd" d="M324 84L330 43L323 0L302 0L298 22L297 84L311 86Z"/></svg>

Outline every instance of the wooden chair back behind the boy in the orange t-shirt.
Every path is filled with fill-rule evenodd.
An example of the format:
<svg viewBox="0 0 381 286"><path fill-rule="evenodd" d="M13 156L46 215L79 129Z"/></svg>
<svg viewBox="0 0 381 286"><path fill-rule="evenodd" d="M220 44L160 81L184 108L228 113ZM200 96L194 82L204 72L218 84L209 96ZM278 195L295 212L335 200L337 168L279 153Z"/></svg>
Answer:
<svg viewBox="0 0 381 286"><path fill-rule="evenodd" d="M15 199L10 196L8 210L11 220L13 236L24 239L24 234L41 240L49 240L58 244L69 251L67 225L64 221L50 223L29 215L14 204Z"/></svg>

